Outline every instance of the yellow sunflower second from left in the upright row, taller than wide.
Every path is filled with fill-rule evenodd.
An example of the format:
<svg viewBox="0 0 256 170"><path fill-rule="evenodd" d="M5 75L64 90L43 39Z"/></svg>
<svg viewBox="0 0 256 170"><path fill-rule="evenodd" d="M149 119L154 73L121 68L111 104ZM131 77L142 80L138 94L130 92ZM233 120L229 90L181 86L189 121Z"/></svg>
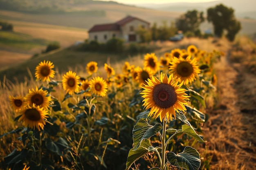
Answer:
<svg viewBox="0 0 256 170"><path fill-rule="evenodd" d="M72 95L79 91L79 79L75 72L69 71L62 77L62 85L68 94Z"/></svg>

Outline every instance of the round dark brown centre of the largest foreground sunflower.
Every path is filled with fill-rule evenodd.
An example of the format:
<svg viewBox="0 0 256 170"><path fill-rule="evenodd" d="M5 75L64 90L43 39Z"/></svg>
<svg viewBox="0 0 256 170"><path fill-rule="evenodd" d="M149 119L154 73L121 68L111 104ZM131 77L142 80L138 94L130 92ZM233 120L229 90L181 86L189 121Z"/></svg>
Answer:
<svg viewBox="0 0 256 170"><path fill-rule="evenodd" d="M169 84L157 84L153 89L153 101L160 108L173 106L177 101L175 89Z"/></svg>

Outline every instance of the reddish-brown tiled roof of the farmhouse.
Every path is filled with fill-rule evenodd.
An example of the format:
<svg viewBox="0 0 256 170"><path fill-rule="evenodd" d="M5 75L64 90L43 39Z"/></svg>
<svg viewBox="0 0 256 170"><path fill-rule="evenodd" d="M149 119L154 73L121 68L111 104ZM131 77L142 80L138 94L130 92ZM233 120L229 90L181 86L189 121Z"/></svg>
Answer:
<svg viewBox="0 0 256 170"><path fill-rule="evenodd" d="M144 20L141 20L136 17L127 16L126 18L123 18L113 24L100 24L100 25L94 25L88 32L97 32L97 31L117 31L120 29L121 25L124 25L132 20L140 20L142 22L146 22ZM146 22L149 24L149 22Z"/></svg>

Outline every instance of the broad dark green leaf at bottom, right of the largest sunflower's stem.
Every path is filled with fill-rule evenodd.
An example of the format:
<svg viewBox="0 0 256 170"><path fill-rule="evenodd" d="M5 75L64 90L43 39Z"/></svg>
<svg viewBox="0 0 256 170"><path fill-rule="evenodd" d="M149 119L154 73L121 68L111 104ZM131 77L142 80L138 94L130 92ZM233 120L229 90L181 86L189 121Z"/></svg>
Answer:
<svg viewBox="0 0 256 170"><path fill-rule="evenodd" d="M173 152L168 152L166 157L173 166L186 170L198 170L201 164L198 151L190 146L186 146L183 152L177 155Z"/></svg>

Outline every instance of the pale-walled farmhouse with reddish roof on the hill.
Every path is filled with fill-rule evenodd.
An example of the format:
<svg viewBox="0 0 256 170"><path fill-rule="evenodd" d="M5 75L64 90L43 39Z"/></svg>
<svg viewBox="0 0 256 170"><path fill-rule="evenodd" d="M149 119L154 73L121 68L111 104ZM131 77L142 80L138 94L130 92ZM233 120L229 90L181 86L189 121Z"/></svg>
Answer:
<svg viewBox="0 0 256 170"><path fill-rule="evenodd" d="M139 42L139 35L136 30L141 26L149 29L149 22L136 17L127 16L112 24L94 25L89 32L89 41L107 42L111 38L121 38L124 42Z"/></svg>

